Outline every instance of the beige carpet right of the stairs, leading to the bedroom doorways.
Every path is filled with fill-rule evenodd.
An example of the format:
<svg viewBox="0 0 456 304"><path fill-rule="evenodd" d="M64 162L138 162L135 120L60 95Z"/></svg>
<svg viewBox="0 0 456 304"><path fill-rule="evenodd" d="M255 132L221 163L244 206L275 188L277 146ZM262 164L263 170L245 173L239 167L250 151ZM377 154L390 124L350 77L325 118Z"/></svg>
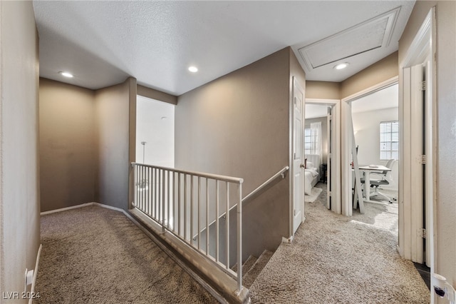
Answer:
<svg viewBox="0 0 456 304"><path fill-rule="evenodd" d="M324 190L306 203L293 243L279 246L250 288L252 303L429 303L413 263L397 253L394 206L366 204L366 214L348 218L325 203Z"/></svg>

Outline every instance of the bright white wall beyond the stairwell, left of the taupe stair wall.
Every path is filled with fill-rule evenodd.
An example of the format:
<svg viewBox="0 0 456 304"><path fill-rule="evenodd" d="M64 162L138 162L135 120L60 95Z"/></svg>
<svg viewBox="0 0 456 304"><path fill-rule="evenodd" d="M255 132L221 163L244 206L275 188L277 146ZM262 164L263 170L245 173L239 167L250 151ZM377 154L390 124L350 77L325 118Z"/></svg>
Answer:
<svg viewBox="0 0 456 304"><path fill-rule="evenodd" d="M145 147L144 163L174 168L174 111L171 103L137 96L136 162L142 163Z"/></svg>

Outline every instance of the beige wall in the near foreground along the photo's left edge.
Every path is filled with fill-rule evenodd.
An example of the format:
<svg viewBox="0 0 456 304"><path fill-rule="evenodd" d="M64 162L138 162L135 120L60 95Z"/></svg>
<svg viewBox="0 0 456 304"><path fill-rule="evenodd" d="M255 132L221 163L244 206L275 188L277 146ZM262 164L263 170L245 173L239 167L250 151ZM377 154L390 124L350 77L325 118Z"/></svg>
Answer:
<svg viewBox="0 0 456 304"><path fill-rule="evenodd" d="M24 290L40 245L38 35L31 1L0 1L0 292ZM27 303L2 300L1 303Z"/></svg>

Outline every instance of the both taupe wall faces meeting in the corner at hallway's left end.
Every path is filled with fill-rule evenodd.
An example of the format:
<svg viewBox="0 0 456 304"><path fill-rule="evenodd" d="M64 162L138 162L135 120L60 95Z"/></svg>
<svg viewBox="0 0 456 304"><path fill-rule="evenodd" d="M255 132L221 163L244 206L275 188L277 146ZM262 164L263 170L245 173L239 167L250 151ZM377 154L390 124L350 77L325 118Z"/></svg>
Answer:
<svg viewBox="0 0 456 304"><path fill-rule="evenodd" d="M41 78L41 211L93 201L128 208L134 86L128 78L92 91Z"/></svg>

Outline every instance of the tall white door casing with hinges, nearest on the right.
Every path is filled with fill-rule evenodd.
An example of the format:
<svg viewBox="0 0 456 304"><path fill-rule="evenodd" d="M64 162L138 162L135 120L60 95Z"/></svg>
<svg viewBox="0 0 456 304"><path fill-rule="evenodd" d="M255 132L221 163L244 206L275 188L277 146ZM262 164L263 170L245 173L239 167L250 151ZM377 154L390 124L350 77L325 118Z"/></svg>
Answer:
<svg viewBox="0 0 456 304"><path fill-rule="evenodd" d="M400 62L400 188L399 244L400 255L415 260L435 271L435 206L436 168L435 123L435 8L430 9L422 26ZM424 69L424 70L423 70ZM423 73L424 71L424 73ZM425 76L425 83L423 83ZM423 93L422 89L425 89ZM424 106L423 106L423 97ZM424 116L423 116L424 111ZM424 117L424 119L423 119ZM425 121L423 126L423 121ZM423 136L424 135L424 136ZM424 143L423 143L424 141ZM423 164L423 146L425 157ZM423 166L425 171L423 174ZM413 174L419 174L413 176ZM425 188L425 194L423 194ZM417 201L418 200L418 201ZM425 208L423 210L423 200ZM423 255L423 216L425 215L426 255ZM435 302L431 293L431 303Z"/></svg>

